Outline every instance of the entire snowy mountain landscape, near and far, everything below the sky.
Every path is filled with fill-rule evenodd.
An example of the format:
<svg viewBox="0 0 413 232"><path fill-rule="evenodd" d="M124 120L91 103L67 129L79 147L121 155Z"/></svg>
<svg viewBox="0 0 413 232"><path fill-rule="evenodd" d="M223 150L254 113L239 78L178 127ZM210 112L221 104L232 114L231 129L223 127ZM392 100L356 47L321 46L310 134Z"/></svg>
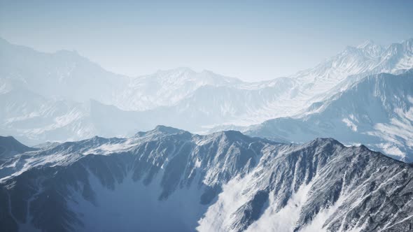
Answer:
<svg viewBox="0 0 413 232"><path fill-rule="evenodd" d="M1 230L413 229L413 39L261 82L0 51Z"/></svg>

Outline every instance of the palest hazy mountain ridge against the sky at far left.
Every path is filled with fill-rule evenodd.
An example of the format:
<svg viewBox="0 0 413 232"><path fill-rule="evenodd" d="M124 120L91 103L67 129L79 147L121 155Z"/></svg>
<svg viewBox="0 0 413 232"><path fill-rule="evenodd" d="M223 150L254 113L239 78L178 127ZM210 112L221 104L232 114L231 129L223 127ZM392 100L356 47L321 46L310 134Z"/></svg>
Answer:
<svg viewBox="0 0 413 232"><path fill-rule="evenodd" d="M27 89L52 99L110 102L127 80L77 52L43 53L3 39L0 51L0 93Z"/></svg>

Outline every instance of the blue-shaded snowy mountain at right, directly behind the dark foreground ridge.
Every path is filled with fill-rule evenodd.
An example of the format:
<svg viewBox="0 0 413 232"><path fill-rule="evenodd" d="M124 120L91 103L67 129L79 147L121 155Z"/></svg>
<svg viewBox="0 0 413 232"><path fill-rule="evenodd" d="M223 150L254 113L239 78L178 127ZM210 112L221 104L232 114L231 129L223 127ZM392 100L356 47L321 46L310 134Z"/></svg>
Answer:
<svg viewBox="0 0 413 232"><path fill-rule="evenodd" d="M304 112L251 126L246 133L296 143L332 137L413 161L413 69L367 76Z"/></svg>

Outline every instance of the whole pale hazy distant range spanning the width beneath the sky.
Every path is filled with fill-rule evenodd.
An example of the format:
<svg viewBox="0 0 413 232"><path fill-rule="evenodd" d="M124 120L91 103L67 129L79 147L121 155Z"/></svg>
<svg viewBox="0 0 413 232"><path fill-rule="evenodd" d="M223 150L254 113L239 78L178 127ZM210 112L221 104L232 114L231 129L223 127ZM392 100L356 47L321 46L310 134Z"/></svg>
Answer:
<svg viewBox="0 0 413 232"><path fill-rule="evenodd" d="M0 133L34 145L127 136L157 124L205 133L301 115L365 75L413 68L412 41L386 48L370 41L289 77L243 82L189 68L125 77L76 52L48 54L0 40Z"/></svg>

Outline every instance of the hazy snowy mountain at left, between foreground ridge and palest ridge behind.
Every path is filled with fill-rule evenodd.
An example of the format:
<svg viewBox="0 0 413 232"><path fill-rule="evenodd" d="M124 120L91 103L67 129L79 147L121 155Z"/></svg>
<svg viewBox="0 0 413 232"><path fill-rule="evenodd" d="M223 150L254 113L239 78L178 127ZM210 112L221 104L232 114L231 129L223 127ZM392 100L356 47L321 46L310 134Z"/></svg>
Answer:
<svg viewBox="0 0 413 232"><path fill-rule="evenodd" d="M28 90L12 90L0 96L1 134L13 134L29 145L80 140L97 134L132 135L151 126L145 124L139 112L120 110L94 100L78 103L47 99Z"/></svg>

